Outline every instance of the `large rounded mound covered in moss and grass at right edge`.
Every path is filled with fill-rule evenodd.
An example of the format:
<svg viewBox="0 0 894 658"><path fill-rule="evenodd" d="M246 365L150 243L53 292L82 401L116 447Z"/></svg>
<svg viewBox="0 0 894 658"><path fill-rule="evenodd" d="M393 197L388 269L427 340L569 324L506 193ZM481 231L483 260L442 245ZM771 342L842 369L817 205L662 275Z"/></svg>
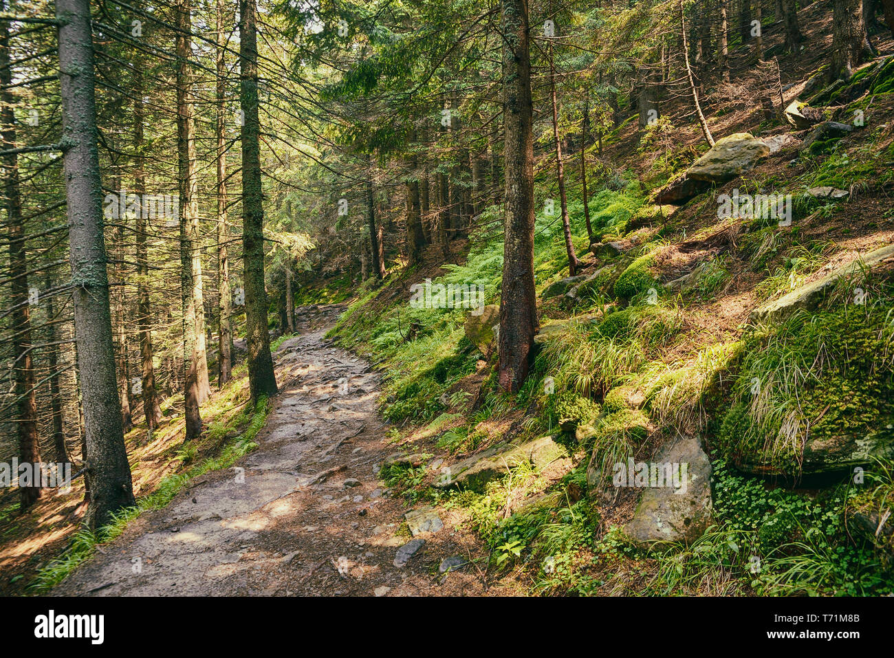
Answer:
<svg viewBox="0 0 894 658"><path fill-rule="evenodd" d="M829 303L837 307L797 313L746 338L718 433L721 454L738 466L831 473L894 450L890 302Z"/></svg>

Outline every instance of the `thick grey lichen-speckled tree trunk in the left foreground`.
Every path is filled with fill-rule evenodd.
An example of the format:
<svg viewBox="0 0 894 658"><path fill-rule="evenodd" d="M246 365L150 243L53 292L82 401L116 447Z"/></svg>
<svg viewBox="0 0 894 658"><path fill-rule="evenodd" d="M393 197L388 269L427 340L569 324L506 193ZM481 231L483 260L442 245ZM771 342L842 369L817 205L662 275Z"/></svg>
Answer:
<svg viewBox="0 0 894 658"><path fill-rule="evenodd" d="M55 15L61 21L63 167L90 491L85 520L97 528L134 500L112 358L89 0L56 0Z"/></svg>

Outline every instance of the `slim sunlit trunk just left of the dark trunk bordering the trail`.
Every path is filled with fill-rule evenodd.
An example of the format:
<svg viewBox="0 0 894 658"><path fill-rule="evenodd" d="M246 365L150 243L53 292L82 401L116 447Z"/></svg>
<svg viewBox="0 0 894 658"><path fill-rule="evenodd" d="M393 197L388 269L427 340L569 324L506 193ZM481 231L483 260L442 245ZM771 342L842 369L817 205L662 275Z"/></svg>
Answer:
<svg viewBox="0 0 894 658"><path fill-rule="evenodd" d="M216 52L216 89L215 102L217 104L217 117L215 132L217 138L217 361L218 374L217 385L223 385L232 377L232 292L230 291L230 251L227 242L230 240L230 231L227 228L226 214L226 139L224 138L224 126L226 122L226 89L224 80L226 65L224 62L223 33L226 30L224 24L225 0L217 0L217 52Z"/></svg>

